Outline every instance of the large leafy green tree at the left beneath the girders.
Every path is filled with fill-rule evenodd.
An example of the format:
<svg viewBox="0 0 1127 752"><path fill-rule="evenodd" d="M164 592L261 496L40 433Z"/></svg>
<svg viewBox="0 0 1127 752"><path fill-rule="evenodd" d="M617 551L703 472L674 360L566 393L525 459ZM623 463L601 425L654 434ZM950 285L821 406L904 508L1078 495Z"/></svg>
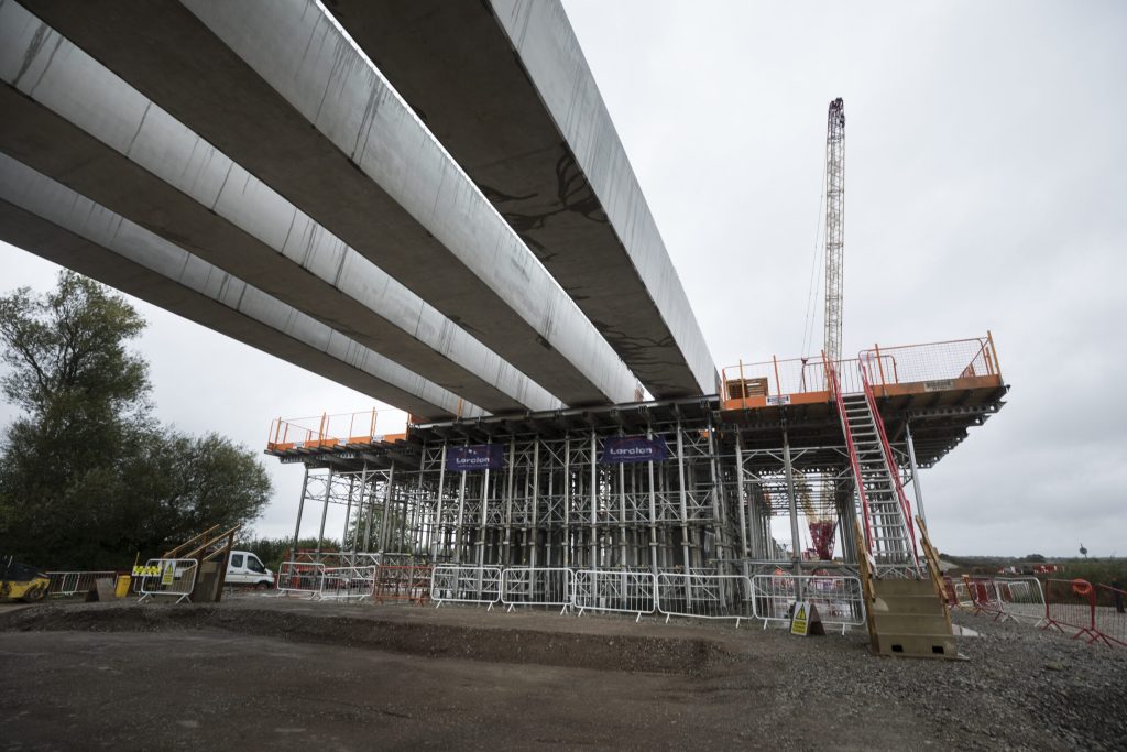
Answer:
<svg viewBox="0 0 1127 752"><path fill-rule="evenodd" d="M143 329L127 301L71 272L45 295L0 298L0 386L24 410L3 432L0 550L122 567L260 514L270 485L249 450L152 417L148 364L126 347Z"/></svg>

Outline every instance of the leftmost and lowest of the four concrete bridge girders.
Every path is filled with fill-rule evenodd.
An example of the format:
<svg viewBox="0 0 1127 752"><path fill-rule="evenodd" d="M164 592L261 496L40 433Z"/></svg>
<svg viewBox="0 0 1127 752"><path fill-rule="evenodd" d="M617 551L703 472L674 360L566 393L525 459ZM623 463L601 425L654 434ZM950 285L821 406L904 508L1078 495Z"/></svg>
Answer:
<svg viewBox="0 0 1127 752"><path fill-rule="evenodd" d="M485 415L7 154L0 154L0 238L415 415Z"/></svg>

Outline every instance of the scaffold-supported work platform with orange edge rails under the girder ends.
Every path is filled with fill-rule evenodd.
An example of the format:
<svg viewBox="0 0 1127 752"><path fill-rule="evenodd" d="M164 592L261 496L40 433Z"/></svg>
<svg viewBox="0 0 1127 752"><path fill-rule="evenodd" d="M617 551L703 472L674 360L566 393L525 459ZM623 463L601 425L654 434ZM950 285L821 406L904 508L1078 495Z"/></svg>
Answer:
<svg viewBox="0 0 1127 752"><path fill-rule="evenodd" d="M849 566L857 551L841 521L860 513L876 529L890 512L868 510L859 493L857 479L873 476L857 463L852 444L862 433L844 430L841 400L871 396L887 436L885 483L895 476L902 501L893 508L911 533L920 468L1001 409L1008 391L990 335L878 346L834 369L772 359L724 377L720 395L597 408L441 423L403 414L393 423L376 412L278 419L266 451L305 466L302 507L346 505L344 540L353 550L686 574L804 559L811 568ZM640 455L622 459L629 452ZM453 458L467 453L481 465L459 467ZM323 533L323 510L321 517ZM802 540L804 528L813 537L819 524L838 541L820 551ZM778 533L788 528L786 540ZM909 545L914 550L906 533L895 556L884 554L907 561Z"/></svg>

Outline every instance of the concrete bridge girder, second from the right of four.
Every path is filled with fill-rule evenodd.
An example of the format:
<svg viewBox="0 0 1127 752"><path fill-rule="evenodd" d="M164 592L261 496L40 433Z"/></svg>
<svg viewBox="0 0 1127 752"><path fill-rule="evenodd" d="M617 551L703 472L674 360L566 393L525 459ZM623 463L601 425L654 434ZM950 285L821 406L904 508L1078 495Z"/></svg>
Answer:
<svg viewBox="0 0 1127 752"><path fill-rule="evenodd" d="M313 0L27 5L565 404L633 398L598 330Z"/></svg>

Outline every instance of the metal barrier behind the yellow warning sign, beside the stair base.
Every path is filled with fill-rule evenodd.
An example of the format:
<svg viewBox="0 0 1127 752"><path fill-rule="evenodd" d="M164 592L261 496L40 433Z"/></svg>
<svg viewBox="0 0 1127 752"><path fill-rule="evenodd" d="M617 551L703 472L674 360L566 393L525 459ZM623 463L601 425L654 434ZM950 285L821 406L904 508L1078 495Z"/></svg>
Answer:
<svg viewBox="0 0 1127 752"><path fill-rule="evenodd" d="M763 628L772 621L790 623L796 601L808 601L818 609L822 623L848 627L864 623L864 596L861 580L845 576L756 575L752 577L752 603Z"/></svg>

